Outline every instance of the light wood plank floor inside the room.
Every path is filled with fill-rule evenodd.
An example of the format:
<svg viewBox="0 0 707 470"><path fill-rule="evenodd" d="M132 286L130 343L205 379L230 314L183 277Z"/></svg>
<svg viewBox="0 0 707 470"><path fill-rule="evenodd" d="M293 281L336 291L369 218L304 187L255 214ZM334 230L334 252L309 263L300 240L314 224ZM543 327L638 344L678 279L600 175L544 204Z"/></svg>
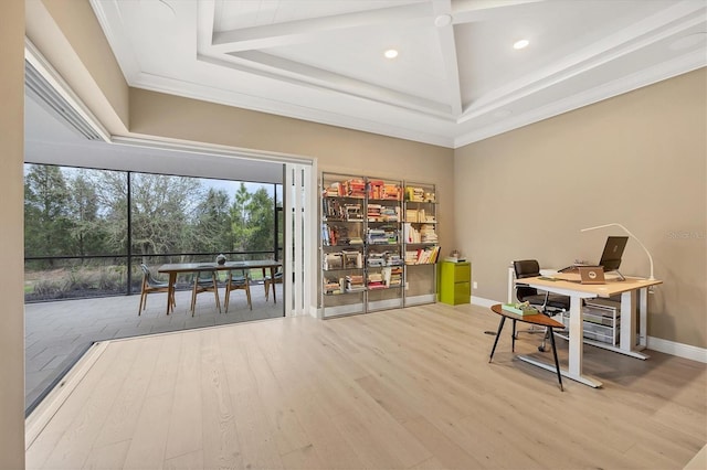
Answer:
<svg viewBox="0 0 707 470"><path fill-rule="evenodd" d="M112 341L27 467L682 469L705 446L705 364L585 346L604 387L561 393L506 332L488 364L497 320L433 305Z"/></svg>

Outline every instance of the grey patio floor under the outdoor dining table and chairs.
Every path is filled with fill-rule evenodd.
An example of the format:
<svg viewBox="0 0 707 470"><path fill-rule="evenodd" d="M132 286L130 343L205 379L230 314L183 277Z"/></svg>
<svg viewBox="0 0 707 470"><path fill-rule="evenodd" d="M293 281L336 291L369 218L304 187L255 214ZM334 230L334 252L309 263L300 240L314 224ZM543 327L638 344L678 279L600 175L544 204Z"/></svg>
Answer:
<svg viewBox="0 0 707 470"><path fill-rule="evenodd" d="M166 293L147 296L147 308L139 317L139 295L28 303L25 409L32 409L94 342L283 317L282 285L275 288L277 303L273 302L272 293L270 301L265 301L262 284L252 285L253 310L247 308L245 291L232 291L228 313L223 307L224 289L219 290L223 313L219 313L212 292L200 293L193 317L189 311L191 291L176 293L177 307L169 316Z"/></svg>

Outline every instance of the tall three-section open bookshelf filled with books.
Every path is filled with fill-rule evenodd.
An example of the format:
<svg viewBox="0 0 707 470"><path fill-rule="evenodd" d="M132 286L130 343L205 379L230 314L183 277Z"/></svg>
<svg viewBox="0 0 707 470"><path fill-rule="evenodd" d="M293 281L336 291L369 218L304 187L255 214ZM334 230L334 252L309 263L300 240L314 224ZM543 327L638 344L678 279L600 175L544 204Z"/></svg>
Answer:
<svg viewBox="0 0 707 470"><path fill-rule="evenodd" d="M411 275L408 269L434 266L436 207L432 204L431 210L430 201L412 204L409 209L418 212L415 221L408 222L407 188L401 180L321 173L324 318L434 301L434 269L426 280L422 270ZM433 194L433 185L424 188ZM407 236L419 242L408 243ZM407 259L408 249L415 253L414 260ZM411 280L414 296L409 299Z"/></svg>

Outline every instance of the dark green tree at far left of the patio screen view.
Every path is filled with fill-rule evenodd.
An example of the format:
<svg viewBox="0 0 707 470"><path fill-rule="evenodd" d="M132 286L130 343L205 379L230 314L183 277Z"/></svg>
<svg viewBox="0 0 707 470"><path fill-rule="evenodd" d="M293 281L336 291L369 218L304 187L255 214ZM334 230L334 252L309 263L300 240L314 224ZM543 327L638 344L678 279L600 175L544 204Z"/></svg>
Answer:
<svg viewBox="0 0 707 470"><path fill-rule="evenodd" d="M28 165L24 177L25 256L70 254L68 200L66 181L59 167Z"/></svg>

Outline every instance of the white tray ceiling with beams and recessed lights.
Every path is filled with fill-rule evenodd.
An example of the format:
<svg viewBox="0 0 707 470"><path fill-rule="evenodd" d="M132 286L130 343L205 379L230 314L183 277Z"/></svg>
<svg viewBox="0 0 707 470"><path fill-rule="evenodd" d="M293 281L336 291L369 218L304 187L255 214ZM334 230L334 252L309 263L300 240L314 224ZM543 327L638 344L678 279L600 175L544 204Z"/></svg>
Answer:
<svg viewBox="0 0 707 470"><path fill-rule="evenodd" d="M133 87L452 148L707 65L707 0L91 3Z"/></svg>

